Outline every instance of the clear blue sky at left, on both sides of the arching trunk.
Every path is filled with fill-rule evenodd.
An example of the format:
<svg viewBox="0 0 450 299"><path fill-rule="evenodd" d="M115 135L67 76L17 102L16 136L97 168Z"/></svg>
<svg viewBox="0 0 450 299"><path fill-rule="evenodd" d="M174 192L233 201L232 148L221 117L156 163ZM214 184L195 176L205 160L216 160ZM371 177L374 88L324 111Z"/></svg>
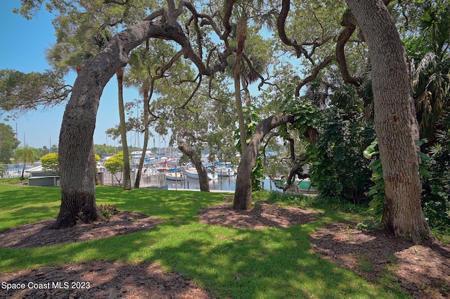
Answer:
<svg viewBox="0 0 450 299"><path fill-rule="evenodd" d="M12 13L13 8L20 7L19 0L0 1L0 69L14 69L20 72L43 72L50 69L45 59L45 49L56 41L52 16L46 11L39 13L32 19L26 20L20 15ZM68 84L73 84L75 74L68 75ZM124 100L133 101L139 98L136 89L124 89ZM94 132L95 144L118 145L117 141L107 139L105 131L119 123L119 112L117 108L117 81L113 77L103 91L103 96L98 108L96 130ZM6 122L15 130L17 127L20 146L25 143L34 148L50 144L58 146L58 136L60 125L63 120L65 105L58 106L51 110L38 109L18 118L17 120ZM6 113L0 114L0 122L5 122ZM142 139L130 134L128 137L129 146L139 146ZM157 138L158 143L158 138ZM150 146L153 143L150 142ZM158 144L156 144L158 146Z"/></svg>

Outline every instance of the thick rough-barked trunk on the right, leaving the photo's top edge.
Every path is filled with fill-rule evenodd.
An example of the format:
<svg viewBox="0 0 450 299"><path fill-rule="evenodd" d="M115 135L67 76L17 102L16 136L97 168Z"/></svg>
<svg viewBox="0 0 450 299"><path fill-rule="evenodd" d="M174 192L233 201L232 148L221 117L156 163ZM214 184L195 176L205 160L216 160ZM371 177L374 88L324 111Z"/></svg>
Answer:
<svg viewBox="0 0 450 299"><path fill-rule="evenodd" d="M432 238L420 206L419 138L406 53L381 0L346 0L366 37L372 65L375 129L385 180L381 224L396 236Z"/></svg>

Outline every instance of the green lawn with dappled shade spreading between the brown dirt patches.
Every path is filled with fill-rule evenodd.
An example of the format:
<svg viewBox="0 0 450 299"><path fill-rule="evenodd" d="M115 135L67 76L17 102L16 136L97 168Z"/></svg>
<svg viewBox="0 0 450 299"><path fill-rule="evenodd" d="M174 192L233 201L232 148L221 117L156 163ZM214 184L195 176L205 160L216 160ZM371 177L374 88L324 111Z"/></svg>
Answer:
<svg viewBox="0 0 450 299"><path fill-rule="evenodd" d="M289 229L232 229L198 222L198 210L223 201L223 193L98 187L98 204L159 217L148 231L45 248L0 248L0 272L90 260L155 262L194 279L217 298L408 298L372 284L311 251L309 234L349 220L323 208L315 222ZM270 196L269 196L270 197ZM255 198L268 199L266 193ZM271 201L276 199L271 198ZM0 229L56 217L60 189L0 184ZM309 205L303 198L299 205Z"/></svg>

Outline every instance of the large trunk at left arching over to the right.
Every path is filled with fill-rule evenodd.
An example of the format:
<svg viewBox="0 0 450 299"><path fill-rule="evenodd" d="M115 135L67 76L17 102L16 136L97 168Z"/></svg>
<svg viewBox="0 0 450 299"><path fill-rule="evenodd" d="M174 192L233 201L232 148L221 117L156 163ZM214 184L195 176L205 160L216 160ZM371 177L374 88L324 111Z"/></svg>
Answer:
<svg viewBox="0 0 450 299"><path fill-rule="evenodd" d="M95 202L94 128L103 88L119 68L127 65L128 53L146 39L172 39L187 49L188 56L207 74L179 25L144 21L115 36L110 44L84 65L75 80L65 108L59 136L61 207L53 228L75 225L77 221L101 219ZM187 48L186 48L187 47Z"/></svg>

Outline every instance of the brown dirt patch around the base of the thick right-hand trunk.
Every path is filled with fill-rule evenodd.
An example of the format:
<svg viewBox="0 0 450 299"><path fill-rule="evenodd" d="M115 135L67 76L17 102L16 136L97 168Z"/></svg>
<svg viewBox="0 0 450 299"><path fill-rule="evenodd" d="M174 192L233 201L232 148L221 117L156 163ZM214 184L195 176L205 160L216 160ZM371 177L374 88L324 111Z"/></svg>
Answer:
<svg viewBox="0 0 450 299"><path fill-rule="evenodd" d="M311 234L312 249L326 260L368 281L390 273L414 298L450 298L450 246L412 245L382 231L361 231L356 223L335 223Z"/></svg>

